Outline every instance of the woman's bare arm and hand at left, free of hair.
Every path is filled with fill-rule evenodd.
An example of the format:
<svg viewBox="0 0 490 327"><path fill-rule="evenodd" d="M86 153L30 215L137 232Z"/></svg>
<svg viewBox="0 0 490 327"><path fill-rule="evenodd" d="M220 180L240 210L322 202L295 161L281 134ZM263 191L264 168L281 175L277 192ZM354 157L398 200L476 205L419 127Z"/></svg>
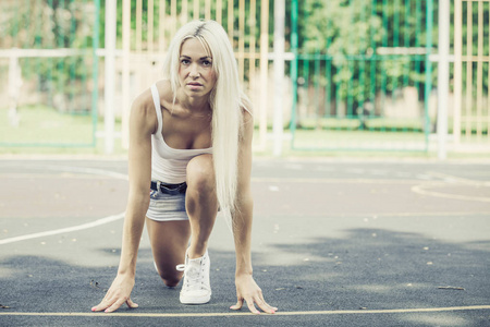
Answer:
<svg viewBox="0 0 490 327"><path fill-rule="evenodd" d="M124 218L121 259L118 275L103 300L91 311L113 312L124 302L130 307L138 305L131 301L136 271L136 257L149 205L151 180L151 133L155 131L156 113L149 90L140 95L131 109L128 173L130 194Z"/></svg>

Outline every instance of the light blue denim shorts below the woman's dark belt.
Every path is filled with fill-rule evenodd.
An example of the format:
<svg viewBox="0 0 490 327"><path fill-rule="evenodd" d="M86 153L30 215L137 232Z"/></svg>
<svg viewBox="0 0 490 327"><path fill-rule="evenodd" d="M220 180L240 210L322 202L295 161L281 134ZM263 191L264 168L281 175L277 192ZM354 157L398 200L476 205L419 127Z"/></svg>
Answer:
<svg viewBox="0 0 490 327"><path fill-rule="evenodd" d="M150 191L150 204L146 217L155 221L188 220L185 210L185 193L170 195Z"/></svg>

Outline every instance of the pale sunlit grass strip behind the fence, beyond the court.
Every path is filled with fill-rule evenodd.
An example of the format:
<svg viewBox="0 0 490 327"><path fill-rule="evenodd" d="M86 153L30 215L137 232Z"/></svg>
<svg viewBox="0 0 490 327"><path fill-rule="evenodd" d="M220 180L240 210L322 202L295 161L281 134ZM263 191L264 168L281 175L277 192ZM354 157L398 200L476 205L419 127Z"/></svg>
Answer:
<svg viewBox="0 0 490 327"><path fill-rule="evenodd" d="M105 155L103 138L94 144L94 124L89 116L60 113L46 106L22 107L20 126L9 124L8 110L0 110L0 155ZM356 130L354 120L328 120L323 129L296 130L294 140L284 140L283 157L416 157L432 158L436 154L426 150L425 135L420 131L401 132L397 122L387 122L390 129ZM382 119L377 121L380 124ZM411 122L411 126L415 122ZM406 131L407 125L404 130ZM102 120L97 129L103 130ZM402 126L403 129L403 126ZM115 122L115 131L121 123ZM270 133L271 131L269 131ZM291 136L290 131L285 135ZM273 141L268 134L266 148L260 148L258 130L254 136L256 156L270 156ZM114 142L112 155L125 156L121 140ZM479 158L487 154L449 154L450 158Z"/></svg>

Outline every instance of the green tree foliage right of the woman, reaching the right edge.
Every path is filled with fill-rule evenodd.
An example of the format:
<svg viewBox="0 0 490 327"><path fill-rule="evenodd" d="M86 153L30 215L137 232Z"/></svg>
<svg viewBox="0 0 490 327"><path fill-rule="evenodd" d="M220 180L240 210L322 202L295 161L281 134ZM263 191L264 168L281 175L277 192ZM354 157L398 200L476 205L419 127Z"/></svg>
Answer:
<svg viewBox="0 0 490 327"><path fill-rule="evenodd" d="M341 99L352 96L362 101L372 97L370 93L373 88L384 88L390 94L407 85L418 87L419 96L422 98L425 73L428 71L425 53L438 52L438 0L298 1L299 55L324 55L328 58L324 66L330 62L332 65L331 81L326 81L323 72L309 78L311 82L319 80L317 82L322 85L331 83L332 92L335 92L336 85L340 92L335 92L335 95ZM429 4L432 5L432 11L428 10ZM482 37L486 38L489 35L489 24L485 22L489 21L490 4L469 2L463 8L463 43L466 44L468 28L473 28L470 35L475 55L478 52L476 22L479 5L483 7ZM468 10L473 26L467 24ZM432 28L429 28L427 19L432 22ZM453 1L451 1L451 20L454 20ZM451 24L451 40L453 39L454 23ZM425 52L428 41L429 52ZM393 48L403 48L407 55L387 55L393 51ZM412 55L408 55L411 53L408 50ZM488 56L488 43L483 43L482 53ZM431 63L431 68L432 85L437 86L437 63ZM364 85L360 84L362 74L365 75ZM483 65L482 75L488 75L488 65ZM371 87L370 83L376 83L376 87ZM488 89L488 78L483 78L482 83L483 89Z"/></svg>

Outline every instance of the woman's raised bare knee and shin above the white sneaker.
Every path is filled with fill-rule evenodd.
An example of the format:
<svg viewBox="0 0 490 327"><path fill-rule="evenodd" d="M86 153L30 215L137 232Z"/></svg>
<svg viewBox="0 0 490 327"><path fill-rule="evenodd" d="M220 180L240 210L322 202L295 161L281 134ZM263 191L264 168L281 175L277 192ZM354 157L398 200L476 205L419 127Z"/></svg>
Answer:
<svg viewBox="0 0 490 327"><path fill-rule="evenodd" d="M191 222L189 258L201 257L208 247L209 235L218 214L215 168L211 155L200 155L187 165L185 207Z"/></svg>

